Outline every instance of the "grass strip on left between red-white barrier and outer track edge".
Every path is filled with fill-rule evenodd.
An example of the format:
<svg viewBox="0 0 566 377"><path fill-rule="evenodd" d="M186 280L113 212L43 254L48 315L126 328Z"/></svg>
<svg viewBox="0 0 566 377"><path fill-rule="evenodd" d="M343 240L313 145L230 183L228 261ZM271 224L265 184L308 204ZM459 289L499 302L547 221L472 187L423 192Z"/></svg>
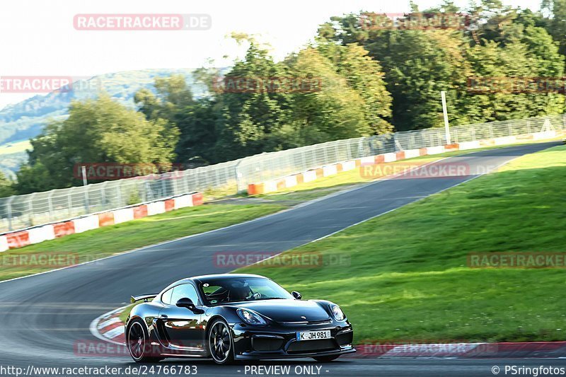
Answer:
<svg viewBox="0 0 566 377"><path fill-rule="evenodd" d="M64 267L69 264L67 262L69 260L71 262L96 260L142 246L211 231L272 214L284 208L277 204L207 204L187 207L85 233L72 234L25 248L8 250L0 253L0 280ZM66 253L70 253L69 259ZM56 262L51 267L40 266L37 262L21 262L22 257L30 258L35 255L63 255L65 260L62 264Z"/></svg>

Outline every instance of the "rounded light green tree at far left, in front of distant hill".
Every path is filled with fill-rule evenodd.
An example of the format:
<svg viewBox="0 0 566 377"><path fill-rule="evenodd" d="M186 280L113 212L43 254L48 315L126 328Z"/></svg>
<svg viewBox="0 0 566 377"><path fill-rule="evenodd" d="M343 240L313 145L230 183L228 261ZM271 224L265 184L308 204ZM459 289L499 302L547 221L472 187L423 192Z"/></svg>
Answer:
<svg viewBox="0 0 566 377"><path fill-rule="evenodd" d="M178 129L166 120L145 120L102 94L71 103L67 120L52 122L32 139L29 165L18 172L18 193L81 184L78 163L168 163L175 158Z"/></svg>

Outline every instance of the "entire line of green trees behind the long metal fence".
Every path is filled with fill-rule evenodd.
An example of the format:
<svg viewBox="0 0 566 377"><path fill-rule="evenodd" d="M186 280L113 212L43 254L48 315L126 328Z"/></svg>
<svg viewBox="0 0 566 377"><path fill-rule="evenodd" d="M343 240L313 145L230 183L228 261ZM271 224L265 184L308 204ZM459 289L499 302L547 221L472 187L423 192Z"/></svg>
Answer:
<svg viewBox="0 0 566 377"><path fill-rule="evenodd" d="M423 12L468 15L463 27L454 28L382 27L366 12L336 16L282 62L253 37L233 35L248 45L246 55L225 75L198 70L197 79L209 87L202 98L192 95L183 76L171 76L156 79L153 91L136 93L137 111L107 95L72 103L67 120L52 122L32 140L30 162L11 190L22 194L79 185L73 167L81 162L192 167L335 139L439 127L440 91L447 93L451 124L560 113L565 101L557 91L469 88L473 78L562 77L566 1L545 1L543 9L485 0L470 9L445 2ZM422 14L415 4L412 11Z"/></svg>

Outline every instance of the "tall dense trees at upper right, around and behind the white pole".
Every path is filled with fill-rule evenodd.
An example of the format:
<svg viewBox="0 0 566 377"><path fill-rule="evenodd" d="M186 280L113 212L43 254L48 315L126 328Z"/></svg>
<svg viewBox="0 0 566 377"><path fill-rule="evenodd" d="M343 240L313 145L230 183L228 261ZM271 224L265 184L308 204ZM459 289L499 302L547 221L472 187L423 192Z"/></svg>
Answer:
<svg viewBox="0 0 566 377"><path fill-rule="evenodd" d="M555 1L555 16L549 21L540 13L483 1L469 11L479 22L464 30L372 28L365 13L349 14L322 25L318 38L343 46L359 43L381 62L387 90L393 96L392 122L397 130L441 126L440 91L447 92L451 124L557 114L564 110L562 93L477 94L469 90L468 79L561 77L564 56L555 40L563 44L565 33L554 33L552 25L563 22L563 17L557 17L562 8ZM460 10L445 2L427 11ZM360 22L364 19L367 23Z"/></svg>

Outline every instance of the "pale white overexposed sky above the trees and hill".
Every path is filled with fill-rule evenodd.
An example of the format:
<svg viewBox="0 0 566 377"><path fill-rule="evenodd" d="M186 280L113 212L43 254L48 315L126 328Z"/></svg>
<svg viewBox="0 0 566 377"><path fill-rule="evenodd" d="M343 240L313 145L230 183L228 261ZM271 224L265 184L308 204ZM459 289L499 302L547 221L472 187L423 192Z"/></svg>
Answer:
<svg viewBox="0 0 566 377"><path fill-rule="evenodd" d="M441 0L415 0L421 9ZM537 10L538 0L504 0ZM455 1L465 7L468 1ZM0 77L84 77L151 68L228 66L243 54L226 35L259 35L275 59L299 50L318 25L343 13L409 11L399 0L3 0ZM207 30L76 30L74 16L100 13L209 15ZM227 56L227 58L226 58ZM209 61L212 59L212 63ZM33 93L0 93L0 109Z"/></svg>

